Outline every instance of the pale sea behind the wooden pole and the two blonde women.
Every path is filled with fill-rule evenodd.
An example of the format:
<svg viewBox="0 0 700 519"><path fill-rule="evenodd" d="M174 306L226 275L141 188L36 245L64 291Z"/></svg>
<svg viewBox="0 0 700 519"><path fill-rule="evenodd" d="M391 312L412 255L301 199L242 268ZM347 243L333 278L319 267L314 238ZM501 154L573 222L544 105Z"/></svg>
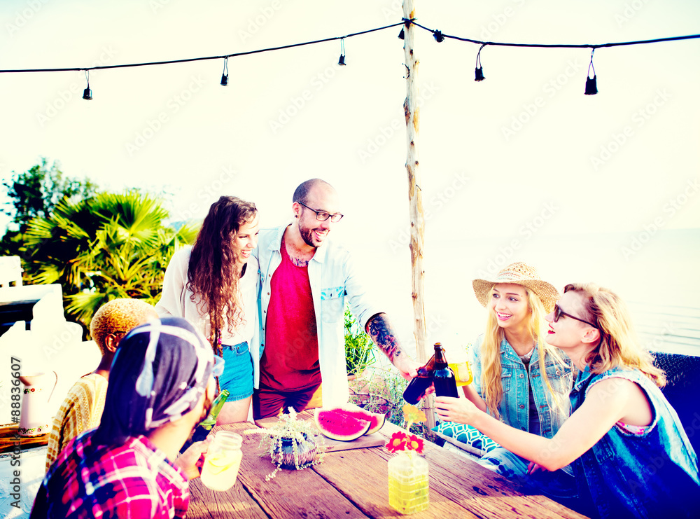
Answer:
<svg viewBox="0 0 700 519"><path fill-rule="evenodd" d="M700 355L700 229L658 230L644 241L639 233L535 235L513 249L509 238L431 240L427 229L423 269L428 350L442 342L447 358L456 359L484 333L486 310L474 296L472 279L495 277L506 265L524 261L560 293L573 282L596 282L616 292L629 305L643 347ZM402 346L414 357L408 245L343 243L353 253L372 302L386 312Z"/></svg>

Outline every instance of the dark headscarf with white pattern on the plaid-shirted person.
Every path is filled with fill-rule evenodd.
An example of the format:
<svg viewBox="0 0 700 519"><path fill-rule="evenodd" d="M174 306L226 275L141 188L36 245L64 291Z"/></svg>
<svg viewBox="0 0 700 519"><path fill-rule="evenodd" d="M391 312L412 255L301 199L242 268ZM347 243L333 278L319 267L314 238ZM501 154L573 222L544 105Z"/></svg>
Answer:
<svg viewBox="0 0 700 519"><path fill-rule="evenodd" d="M137 326L120 342L109 371L104 411L94 441L123 443L178 420L197 406L223 359L185 319Z"/></svg>

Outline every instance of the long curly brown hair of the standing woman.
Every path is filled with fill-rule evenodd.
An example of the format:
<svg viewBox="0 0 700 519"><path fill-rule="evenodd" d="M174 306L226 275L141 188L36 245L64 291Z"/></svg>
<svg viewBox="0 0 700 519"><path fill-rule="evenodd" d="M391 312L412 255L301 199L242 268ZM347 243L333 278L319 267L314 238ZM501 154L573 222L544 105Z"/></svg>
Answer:
<svg viewBox="0 0 700 519"><path fill-rule="evenodd" d="M221 331L229 333L245 316L241 308L239 282L241 268L236 263L235 238L246 222L253 221L258 209L253 202L235 196L222 196L209 208L200 233L192 247L187 271L187 286L193 302L200 300L202 311L209 315L209 342L221 355Z"/></svg>

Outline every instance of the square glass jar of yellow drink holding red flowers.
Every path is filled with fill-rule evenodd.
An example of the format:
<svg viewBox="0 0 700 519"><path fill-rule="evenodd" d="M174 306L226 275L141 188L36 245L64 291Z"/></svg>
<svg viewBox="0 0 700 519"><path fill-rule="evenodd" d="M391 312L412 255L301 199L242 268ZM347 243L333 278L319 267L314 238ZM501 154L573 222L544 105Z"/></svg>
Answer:
<svg viewBox="0 0 700 519"><path fill-rule="evenodd" d="M428 462L415 451L398 452L388 462L389 505L400 513L428 508Z"/></svg>

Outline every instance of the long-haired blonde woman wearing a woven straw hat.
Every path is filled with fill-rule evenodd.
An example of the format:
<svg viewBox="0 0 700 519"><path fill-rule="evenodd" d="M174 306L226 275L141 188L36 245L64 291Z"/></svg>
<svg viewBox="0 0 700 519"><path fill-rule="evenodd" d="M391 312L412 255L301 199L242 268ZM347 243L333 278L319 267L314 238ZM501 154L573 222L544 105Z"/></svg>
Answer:
<svg viewBox="0 0 700 519"><path fill-rule="evenodd" d="M475 279L486 331L470 349L474 383L463 386L482 411L523 431L552 438L568 417L573 374L568 358L545 342L545 315L559 293L526 263L512 263L491 279ZM528 462L505 448L479 462L510 478L527 478ZM550 497L570 497L573 478L559 471L533 482Z"/></svg>

